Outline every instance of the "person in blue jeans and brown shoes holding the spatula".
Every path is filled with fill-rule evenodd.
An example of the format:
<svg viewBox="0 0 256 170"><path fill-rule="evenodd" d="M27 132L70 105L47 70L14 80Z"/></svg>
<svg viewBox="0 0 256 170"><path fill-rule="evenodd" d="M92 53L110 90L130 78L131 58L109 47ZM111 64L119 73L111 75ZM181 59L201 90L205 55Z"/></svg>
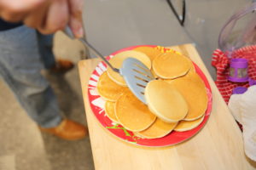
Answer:
<svg viewBox="0 0 256 170"><path fill-rule="evenodd" d="M9 85L38 127L61 139L82 139L87 128L63 116L54 91L41 70L67 71L73 67L55 60L52 34L70 26L82 37L83 0L1 0L0 77Z"/></svg>

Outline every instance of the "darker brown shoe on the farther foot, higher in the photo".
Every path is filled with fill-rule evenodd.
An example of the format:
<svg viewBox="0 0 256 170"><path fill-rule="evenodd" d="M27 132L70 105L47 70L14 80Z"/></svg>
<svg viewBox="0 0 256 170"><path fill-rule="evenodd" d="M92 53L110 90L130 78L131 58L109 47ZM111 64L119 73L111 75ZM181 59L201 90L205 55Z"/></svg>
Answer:
<svg viewBox="0 0 256 170"><path fill-rule="evenodd" d="M56 59L55 66L50 68L52 73L66 73L73 69L73 62L67 59Z"/></svg>

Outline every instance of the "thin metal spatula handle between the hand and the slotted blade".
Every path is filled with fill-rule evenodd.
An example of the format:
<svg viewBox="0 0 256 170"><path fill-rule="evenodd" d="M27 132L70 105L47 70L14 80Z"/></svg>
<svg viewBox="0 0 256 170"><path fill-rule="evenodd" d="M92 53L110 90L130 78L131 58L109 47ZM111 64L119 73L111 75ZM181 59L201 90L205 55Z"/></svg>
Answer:
<svg viewBox="0 0 256 170"><path fill-rule="evenodd" d="M73 31L70 29L69 26L66 26L64 33L67 35L67 37L70 37L72 39L75 39L74 35L73 35ZM100 57L113 71L118 72L119 73L119 69L114 68L113 65L111 65L108 60L102 55L100 54L96 48L94 48L92 45L90 45L89 42L87 42L84 37L79 38L79 41L82 42L84 44L84 46L86 46L87 48L90 49L90 51L92 51L94 54L96 54L97 57Z"/></svg>

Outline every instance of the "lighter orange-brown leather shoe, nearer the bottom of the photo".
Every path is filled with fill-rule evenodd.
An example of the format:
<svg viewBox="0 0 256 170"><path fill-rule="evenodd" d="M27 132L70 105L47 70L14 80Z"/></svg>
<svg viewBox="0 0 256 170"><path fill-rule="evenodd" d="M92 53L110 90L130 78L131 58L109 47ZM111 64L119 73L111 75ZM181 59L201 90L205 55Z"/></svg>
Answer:
<svg viewBox="0 0 256 170"><path fill-rule="evenodd" d="M73 122L68 119L64 119L61 124L57 127L44 128L39 127L41 131L54 134L61 139L67 140L77 140L83 139L88 135L87 127L79 124L78 122Z"/></svg>

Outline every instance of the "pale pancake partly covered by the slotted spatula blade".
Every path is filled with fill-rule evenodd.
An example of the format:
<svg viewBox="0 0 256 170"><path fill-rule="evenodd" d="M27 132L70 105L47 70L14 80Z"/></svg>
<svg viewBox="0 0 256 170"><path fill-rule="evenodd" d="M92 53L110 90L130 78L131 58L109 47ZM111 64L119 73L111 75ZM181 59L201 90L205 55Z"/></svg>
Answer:
<svg viewBox="0 0 256 170"><path fill-rule="evenodd" d="M144 65L151 68L151 61L146 54L137 51L124 51L113 56L109 59L109 63L115 68L121 68L123 61L127 58L135 58L143 62ZM117 72L113 71L110 67L107 68L108 76L113 80L113 82L118 83L121 86L126 86L125 79Z"/></svg>

